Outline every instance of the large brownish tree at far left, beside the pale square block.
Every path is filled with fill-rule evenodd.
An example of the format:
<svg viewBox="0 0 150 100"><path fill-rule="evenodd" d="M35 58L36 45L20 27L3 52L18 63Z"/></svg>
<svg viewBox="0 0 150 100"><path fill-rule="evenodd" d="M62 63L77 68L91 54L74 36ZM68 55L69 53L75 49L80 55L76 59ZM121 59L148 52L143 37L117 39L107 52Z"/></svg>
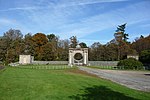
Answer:
<svg viewBox="0 0 150 100"><path fill-rule="evenodd" d="M23 52L24 45L22 41L22 33L20 30L10 29L4 33L1 39L2 60L10 63L18 60L19 54ZM5 53L5 54L4 54Z"/></svg>

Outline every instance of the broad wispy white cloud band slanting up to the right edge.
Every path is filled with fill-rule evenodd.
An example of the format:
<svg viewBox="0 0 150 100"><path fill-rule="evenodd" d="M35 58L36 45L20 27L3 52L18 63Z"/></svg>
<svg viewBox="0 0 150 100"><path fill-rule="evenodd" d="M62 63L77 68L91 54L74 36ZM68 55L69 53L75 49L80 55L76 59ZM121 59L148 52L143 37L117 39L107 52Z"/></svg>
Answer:
<svg viewBox="0 0 150 100"><path fill-rule="evenodd" d="M140 2L124 8L118 8L115 11L97 14L80 22L64 25L61 27L62 32L64 32L62 36L66 38L76 35L79 38L83 38L89 34L115 28L123 23L127 23L128 26L132 27L137 23L149 20L149 10L145 10L145 6L148 6L147 2ZM69 35L69 33L71 34Z"/></svg>

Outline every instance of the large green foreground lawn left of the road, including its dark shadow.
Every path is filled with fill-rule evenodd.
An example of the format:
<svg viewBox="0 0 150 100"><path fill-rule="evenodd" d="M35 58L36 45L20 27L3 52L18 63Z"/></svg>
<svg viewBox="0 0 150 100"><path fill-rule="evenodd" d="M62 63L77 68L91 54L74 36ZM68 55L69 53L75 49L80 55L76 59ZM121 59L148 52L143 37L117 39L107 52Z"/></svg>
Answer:
<svg viewBox="0 0 150 100"><path fill-rule="evenodd" d="M0 70L0 100L149 100L150 93L126 88L78 69L8 67Z"/></svg>

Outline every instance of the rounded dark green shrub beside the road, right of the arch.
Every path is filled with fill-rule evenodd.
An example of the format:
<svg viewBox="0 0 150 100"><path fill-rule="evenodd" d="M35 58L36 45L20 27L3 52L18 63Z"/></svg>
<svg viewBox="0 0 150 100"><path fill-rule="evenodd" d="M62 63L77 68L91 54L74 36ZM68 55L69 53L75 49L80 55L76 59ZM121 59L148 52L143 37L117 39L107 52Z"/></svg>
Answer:
<svg viewBox="0 0 150 100"><path fill-rule="evenodd" d="M143 69L143 64L134 58L124 59L118 62L120 69Z"/></svg>

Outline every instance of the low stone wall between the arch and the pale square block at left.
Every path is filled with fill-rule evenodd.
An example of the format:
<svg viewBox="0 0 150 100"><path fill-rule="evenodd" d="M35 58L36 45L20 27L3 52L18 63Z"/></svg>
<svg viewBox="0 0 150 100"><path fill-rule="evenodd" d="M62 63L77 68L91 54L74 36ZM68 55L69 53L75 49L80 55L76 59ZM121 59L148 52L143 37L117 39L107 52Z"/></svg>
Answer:
<svg viewBox="0 0 150 100"><path fill-rule="evenodd" d="M68 65L68 61L33 61L32 64Z"/></svg>

